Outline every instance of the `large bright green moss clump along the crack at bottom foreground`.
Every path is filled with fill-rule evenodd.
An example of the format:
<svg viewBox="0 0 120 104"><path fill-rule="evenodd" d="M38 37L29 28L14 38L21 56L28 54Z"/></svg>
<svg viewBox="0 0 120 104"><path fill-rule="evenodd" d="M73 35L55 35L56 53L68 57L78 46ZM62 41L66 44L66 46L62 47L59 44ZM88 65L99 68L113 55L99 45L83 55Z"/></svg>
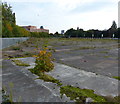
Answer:
<svg viewBox="0 0 120 104"><path fill-rule="evenodd" d="M73 86L63 86L60 88L61 96L65 94L70 97L71 100L84 103L86 98L92 98L93 102L106 102L106 99L102 96L94 94L93 90L80 89Z"/></svg>

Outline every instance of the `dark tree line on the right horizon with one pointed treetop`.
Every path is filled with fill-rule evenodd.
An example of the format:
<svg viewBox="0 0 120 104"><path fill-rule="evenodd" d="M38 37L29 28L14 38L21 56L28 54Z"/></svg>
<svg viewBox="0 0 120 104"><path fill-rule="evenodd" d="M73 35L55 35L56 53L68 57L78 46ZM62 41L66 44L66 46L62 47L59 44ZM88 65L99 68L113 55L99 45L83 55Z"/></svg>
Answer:
<svg viewBox="0 0 120 104"><path fill-rule="evenodd" d="M117 28L117 24L113 21L112 26L108 30L87 30L77 28L76 30L71 28L67 30L64 37L85 37L85 38L120 38L120 28Z"/></svg>

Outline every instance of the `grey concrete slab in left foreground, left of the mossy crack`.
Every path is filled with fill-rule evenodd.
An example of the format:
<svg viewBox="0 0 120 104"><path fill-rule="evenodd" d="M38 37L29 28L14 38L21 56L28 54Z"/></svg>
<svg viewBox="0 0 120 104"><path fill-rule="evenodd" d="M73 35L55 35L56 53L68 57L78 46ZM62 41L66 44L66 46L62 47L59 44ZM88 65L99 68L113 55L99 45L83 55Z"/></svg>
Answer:
<svg viewBox="0 0 120 104"><path fill-rule="evenodd" d="M59 87L57 85L36 79L36 75L32 74L25 67L14 65L10 60L3 60L2 70L2 84L6 87L7 94L10 94L10 89L12 89L14 102L71 101L67 97L60 97Z"/></svg>

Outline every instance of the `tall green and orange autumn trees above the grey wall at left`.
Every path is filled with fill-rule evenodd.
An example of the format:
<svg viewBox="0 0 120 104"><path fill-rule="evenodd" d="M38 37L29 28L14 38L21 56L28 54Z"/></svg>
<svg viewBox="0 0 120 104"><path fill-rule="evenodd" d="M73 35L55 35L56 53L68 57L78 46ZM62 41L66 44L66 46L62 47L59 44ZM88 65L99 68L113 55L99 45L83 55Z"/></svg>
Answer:
<svg viewBox="0 0 120 104"><path fill-rule="evenodd" d="M30 36L30 32L16 25L15 13L7 3L2 3L2 37Z"/></svg>

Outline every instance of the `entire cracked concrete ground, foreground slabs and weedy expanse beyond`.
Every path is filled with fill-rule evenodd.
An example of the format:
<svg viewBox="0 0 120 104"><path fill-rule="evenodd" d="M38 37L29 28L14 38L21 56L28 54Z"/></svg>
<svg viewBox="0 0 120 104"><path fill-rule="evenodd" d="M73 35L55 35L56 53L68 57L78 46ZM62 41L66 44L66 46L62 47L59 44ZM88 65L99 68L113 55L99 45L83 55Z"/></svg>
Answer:
<svg viewBox="0 0 120 104"><path fill-rule="evenodd" d="M93 89L100 95L116 96L118 94L118 81L112 78L120 74L118 71L120 44L117 40L32 38L16 47L4 49L3 58L34 55L39 51L38 49L35 52L34 49L41 49L44 43L48 43L49 48L56 50L53 53L56 59L55 70L48 74L61 80L64 85ZM31 67L34 66L32 58L21 60L31 64ZM36 76L25 67L18 67L10 60L3 61L3 85L9 89L8 84L14 83L15 100L21 96L22 101L26 102L52 101L53 99L53 101L69 101L65 96L64 99L59 97L58 86L42 80L34 80L35 78Z"/></svg>

